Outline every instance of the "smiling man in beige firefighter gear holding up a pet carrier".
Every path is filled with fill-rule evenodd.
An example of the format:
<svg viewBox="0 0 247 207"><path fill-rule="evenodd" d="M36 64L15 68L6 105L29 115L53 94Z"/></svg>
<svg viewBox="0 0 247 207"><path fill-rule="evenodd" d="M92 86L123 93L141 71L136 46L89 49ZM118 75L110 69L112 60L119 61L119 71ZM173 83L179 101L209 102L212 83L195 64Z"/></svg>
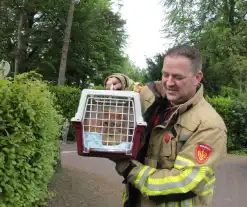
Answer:
<svg viewBox="0 0 247 207"><path fill-rule="evenodd" d="M135 160L113 160L124 177L124 207L209 207L215 170L225 157L227 129L203 97L202 58L177 46L164 55L162 80L142 86L124 74L106 89L140 93L147 128Z"/></svg>

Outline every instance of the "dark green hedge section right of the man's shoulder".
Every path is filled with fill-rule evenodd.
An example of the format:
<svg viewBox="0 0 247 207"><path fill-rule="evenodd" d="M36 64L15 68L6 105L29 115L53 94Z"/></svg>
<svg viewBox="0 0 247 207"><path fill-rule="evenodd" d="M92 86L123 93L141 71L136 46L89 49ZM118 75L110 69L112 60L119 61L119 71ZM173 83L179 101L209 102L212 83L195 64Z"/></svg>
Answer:
<svg viewBox="0 0 247 207"><path fill-rule="evenodd" d="M247 103L237 98L207 97L228 129L228 150L247 147Z"/></svg>

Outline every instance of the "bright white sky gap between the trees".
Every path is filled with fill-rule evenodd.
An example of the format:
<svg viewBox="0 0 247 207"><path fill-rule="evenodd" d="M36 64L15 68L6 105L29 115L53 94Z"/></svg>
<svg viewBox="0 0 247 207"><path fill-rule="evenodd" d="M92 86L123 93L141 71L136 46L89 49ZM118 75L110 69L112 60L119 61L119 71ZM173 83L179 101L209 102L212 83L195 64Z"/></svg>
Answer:
<svg viewBox="0 0 247 207"><path fill-rule="evenodd" d="M171 41L161 32L164 12L160 0L122 0L120 10L129 38L125 53L140 68L146 67L145 57L164 52ZM117 7L113 6L116 11Z"/></svg>

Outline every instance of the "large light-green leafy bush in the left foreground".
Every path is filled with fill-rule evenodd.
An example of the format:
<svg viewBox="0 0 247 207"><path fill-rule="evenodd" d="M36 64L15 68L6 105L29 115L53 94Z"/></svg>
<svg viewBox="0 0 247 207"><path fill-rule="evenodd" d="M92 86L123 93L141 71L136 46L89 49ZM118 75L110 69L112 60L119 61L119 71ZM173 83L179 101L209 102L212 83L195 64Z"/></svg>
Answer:
<svg viewBox="0 0 247 207"><path fill-rule="evenodd" d="M0 80L0 207L40 206L59 156L62 117L36 73Z"/></svg>

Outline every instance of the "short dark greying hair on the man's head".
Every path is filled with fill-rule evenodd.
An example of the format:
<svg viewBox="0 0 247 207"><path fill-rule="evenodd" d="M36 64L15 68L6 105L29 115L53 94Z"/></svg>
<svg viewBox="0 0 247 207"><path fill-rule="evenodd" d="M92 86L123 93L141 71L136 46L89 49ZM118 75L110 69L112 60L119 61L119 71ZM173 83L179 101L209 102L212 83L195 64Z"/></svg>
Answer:
<svg viewBox="0 0 247 207"><path fill-rule="evenodd" d="M192 64L192 70L194 73L198 73L202 70L202 56L199 50L195 47L188 45L180 45L170 48L165 53L165 56L183 56L190 59Z"/></svg>

